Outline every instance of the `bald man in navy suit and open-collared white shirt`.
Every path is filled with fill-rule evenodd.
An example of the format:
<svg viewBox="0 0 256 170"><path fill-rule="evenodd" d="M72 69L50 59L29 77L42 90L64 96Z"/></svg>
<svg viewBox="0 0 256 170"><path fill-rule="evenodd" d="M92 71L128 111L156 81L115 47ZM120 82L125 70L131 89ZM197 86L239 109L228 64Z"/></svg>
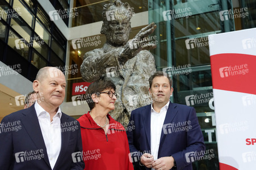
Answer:
<svg viewBox="0 0 256 170"><path fill-rule="evenodd" d="M64 74L55 67L39 70L33 82L37 101L0 124L0 169L83 169L77 120L62 113Z"/></svg>

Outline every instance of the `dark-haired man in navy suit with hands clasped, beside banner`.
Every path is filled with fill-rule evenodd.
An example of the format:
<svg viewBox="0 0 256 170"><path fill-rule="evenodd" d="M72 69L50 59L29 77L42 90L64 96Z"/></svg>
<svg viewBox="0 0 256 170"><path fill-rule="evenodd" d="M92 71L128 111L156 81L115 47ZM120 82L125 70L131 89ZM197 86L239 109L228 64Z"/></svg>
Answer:
<svg viewBox="0 0 256 170"><path fill-rule="evenodd" d="M150 76L153 103L131 113L127 137L135 169L192 169L203 156L195 109L170 102L172 83L162 71Z"/></svg>

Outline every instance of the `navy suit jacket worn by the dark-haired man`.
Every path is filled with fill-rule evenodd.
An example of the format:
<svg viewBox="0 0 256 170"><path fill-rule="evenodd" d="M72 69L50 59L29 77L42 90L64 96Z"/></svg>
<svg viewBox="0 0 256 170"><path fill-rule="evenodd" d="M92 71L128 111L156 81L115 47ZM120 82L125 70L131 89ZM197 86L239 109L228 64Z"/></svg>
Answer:
<svg viewBox="0 0 256 170"><path fill-rule="evenodd" d="M135 169L149 169L139 165L139 160L144 152L150 152L150 114L151 105L131 113L127 137ZM157 159L172 155L177 164L177 168L172 169L192 169L191 155L188 157L188 154L204 150L203 134L195 109L170 102L163 123Z"/></svg>

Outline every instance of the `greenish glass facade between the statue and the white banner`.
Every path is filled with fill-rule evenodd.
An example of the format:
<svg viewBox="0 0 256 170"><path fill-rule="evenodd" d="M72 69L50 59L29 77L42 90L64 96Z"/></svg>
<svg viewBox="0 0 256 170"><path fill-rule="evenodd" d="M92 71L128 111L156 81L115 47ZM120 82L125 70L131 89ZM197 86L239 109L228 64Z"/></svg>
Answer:
<svg viewBox="0 0 256 170"><path fill-rule="evenodd" d="M157 70L172 76L174 103L196 109L207 150L215 156L194 169L219 169L208 35L255 27L256 1L152 1L158 46L151 50Z"/></svg>

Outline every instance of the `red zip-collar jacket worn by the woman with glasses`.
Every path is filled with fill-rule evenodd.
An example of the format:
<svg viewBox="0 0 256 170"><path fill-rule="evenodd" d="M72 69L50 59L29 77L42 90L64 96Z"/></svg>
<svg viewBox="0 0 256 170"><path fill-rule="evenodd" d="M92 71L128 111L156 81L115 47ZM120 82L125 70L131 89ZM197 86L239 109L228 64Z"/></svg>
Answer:
<svg viewBox="0 0 256 170"><path fill-rule="evenodd" d="M78 118L85 170L133 170L125 129L109 114L107 117L110 121L107 135L96 125L90 112Z"/></svg>

